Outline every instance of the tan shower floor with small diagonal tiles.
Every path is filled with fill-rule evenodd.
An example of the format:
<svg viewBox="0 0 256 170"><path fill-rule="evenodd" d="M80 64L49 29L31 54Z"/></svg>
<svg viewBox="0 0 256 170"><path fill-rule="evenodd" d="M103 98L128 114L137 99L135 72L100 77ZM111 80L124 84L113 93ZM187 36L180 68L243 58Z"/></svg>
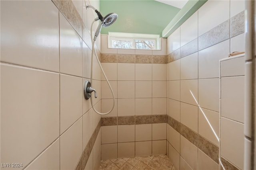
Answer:
<svg viewBox="0 0 256 170"><path fill-rule="evenodd" d="M100 170L176 170L166 155L102 160Z"/></svg>

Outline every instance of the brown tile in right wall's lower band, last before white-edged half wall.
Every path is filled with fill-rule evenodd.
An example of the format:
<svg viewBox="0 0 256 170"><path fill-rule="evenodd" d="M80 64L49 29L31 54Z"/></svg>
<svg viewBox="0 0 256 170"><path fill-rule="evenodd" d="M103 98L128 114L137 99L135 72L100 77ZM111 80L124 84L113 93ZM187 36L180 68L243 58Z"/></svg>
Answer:
<svg viewBox="0 0 256 170"><path fill-rule="evenodd" d="M219 164L219 148L211 143L210 141L204 139L198 135L198 148L207 154L212 160Z"/></svg>

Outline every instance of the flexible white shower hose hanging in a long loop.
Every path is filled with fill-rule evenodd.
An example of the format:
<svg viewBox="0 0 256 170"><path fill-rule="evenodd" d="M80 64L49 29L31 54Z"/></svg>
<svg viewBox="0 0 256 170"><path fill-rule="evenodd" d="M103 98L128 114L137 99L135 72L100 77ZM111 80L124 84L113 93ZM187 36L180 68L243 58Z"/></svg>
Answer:
<svg viewBox="0 0 256 170"><path fill-rule="evenodd" d="M96 53L96 50L95 50L95 48L94 48L95 40L93 40L93 38L92 38L92 26L93 26L94 22L95 22L95 20L92 22L91 30L90 30L90 31L91 31L91 41L92 41L92 58L91 58L92 61L91 61L91 79L90 79L90 81L91 81L91 86L92 86L93 54L95 54L96 59L97 59L97 61L98 61L98 64L100 65L100 69L101 69L101 71L102 71L102 73L103 73L103 75L104 75L104 77L105 77L105 79L106 79L106 81L107 81L107 83L108 83L108 86L109 86L109 88L110 88L110 90L111 90L111 93L112 93L112 96L113 96L113 106L112 106L112 109L110 109L110 111L108 111L108 112L106 112L106 113L100 113L99 111L97 111L97 110L94 108L94 106L93 106L93 104L92 104L92 96L91 96L91 104L92 104L92 109L93 109L96 113L98 113L98 114L100 114L100 115L106 115L106 114L110 113L110 112L114 109L114 106L115 106L115 98L114 98L114 92L113 92L113 90L112 90L112 88L111 88L111 86L110 86L110 83L109 83L109 81L108 81L108 78L107 78L107 76L106 76L106 74L105 74L105 72L104 72L104 70L103 70L103 68L102 68L102 66L101 66L101 64L100 64L100 60L99 60L98 55L97 55L97 53Z"/></svg>

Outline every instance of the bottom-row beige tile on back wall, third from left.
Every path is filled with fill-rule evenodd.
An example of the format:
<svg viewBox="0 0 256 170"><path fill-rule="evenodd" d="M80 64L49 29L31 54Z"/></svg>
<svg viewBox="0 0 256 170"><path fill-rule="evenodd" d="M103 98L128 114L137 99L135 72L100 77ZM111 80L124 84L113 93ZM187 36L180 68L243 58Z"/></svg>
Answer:
<svg viewBox="0 0 256 170"><path fill-rule="evenodd" d="M135 142L135 156L152 154L152 141Z"/></svg>

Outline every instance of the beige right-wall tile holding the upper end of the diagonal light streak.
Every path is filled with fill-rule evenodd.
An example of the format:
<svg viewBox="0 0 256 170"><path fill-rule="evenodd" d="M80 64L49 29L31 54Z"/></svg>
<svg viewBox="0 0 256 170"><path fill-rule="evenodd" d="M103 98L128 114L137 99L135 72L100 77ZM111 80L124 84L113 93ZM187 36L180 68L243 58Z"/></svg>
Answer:
<svg viewBox="0 0 256 170"><path fill-rule="evenodd" d="M180 81L180 101L198 105L198 80Z"/></svg>

